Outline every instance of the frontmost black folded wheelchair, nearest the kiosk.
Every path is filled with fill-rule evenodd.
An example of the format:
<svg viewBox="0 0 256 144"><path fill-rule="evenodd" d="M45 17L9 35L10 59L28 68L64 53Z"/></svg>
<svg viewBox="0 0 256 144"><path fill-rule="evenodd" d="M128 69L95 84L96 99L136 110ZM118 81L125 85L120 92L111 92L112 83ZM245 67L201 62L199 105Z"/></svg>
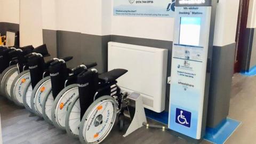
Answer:
<svg viewBox="0 0 256 144"><path fill-rule="evenodd" d="M117 113L123 115L127 94L121 92L116 79L126 72L114 69L98 75L92 69L78 75L79 95L67 108L68 135L79 137L82 143L100 143L107 137Z"/></svg>

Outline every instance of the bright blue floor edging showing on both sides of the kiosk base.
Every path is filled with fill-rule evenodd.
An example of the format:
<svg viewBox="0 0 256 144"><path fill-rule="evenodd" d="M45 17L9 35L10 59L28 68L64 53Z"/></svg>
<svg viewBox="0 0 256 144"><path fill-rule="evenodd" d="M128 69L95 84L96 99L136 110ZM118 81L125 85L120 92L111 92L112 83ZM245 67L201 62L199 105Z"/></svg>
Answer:
<svg viewBox="0 0 256 144"><path fill-rule="evenodd" d="M162 113L155 113L149 109L145 109L146 116L150 119L153 119L162 124L168 124L169 113L164 111ZM227 118L223 120L217 127L214 129L206 127L206 134L204 139L216 144L224 143L230 135L237 129L241 124L234 119Z"/></svg>

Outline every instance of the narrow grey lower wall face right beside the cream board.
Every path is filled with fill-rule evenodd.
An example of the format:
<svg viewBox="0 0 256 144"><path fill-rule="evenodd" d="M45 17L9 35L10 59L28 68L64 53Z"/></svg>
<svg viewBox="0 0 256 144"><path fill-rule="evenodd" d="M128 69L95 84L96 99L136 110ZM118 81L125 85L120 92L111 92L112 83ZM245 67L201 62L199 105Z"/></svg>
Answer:
<svg viewBox="0 0 256 144"><path fill-rule="evenodd" d="M43 29L43 43L46 44L51 57L46 60L57 57L57 30Z"/></svg>

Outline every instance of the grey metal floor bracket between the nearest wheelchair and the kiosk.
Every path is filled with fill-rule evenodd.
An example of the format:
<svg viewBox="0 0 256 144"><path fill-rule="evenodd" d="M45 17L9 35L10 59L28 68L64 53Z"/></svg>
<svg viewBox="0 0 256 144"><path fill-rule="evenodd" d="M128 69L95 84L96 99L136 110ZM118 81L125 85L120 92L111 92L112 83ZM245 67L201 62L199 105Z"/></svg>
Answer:
<svg viewBox="0 0 256 144"><path fill-rule="evenodd" d="M140 127L143 126L142 125L143 123L147 123L146 114L143 107L143 101L142 101L142 97L140 97L140 94L133 92L127 98L131 102L132 101L135 102L135 114L132 119L132 123L130 124L129 128L127 129L123 137L126 137L132 132L138 130Z"/></svg>

